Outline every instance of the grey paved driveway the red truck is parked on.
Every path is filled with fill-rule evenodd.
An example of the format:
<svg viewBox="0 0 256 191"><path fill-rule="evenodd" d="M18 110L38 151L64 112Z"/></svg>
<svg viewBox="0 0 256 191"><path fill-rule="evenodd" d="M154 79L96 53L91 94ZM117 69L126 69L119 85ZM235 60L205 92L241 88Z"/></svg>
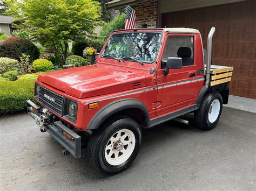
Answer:
<svg viewBox="0 0 256 191"><path fill-rule="evenodd" d="M193 118L192 115L185 116ZM0 119L0 188L52 190L255 190L256 114L224 108L217 128L201 131L167 122L144 131L137 159L105 176L86 158L62 155L27 114Z"/></svg>

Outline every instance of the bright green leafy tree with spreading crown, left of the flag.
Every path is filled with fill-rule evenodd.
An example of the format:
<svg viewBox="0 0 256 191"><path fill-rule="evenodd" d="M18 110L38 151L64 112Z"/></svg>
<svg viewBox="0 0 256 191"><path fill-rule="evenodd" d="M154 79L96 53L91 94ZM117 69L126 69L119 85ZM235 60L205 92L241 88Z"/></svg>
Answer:
<svg viewBox="0 0 256 191"><path fill-rule="evenodd" d="M93 34L100 25L102 9L92 0L4 0L6 13L21 24L30 38L53 48L62 64L65 63L68 43Z"/></svg>

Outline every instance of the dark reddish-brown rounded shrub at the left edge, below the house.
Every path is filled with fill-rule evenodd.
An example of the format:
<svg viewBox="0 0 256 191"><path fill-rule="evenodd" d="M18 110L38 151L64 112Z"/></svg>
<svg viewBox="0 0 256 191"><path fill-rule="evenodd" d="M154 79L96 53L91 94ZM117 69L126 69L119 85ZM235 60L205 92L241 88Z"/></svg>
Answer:
<svg viewBox="0 0 256 191"><path fill-rule="evenodd" d="M36 45L24 38L9 37L0 45L0 57L5 56L20 61L19 57L22 56L22 53L30 55L31 61L39 58L39 51Z"/></svg>

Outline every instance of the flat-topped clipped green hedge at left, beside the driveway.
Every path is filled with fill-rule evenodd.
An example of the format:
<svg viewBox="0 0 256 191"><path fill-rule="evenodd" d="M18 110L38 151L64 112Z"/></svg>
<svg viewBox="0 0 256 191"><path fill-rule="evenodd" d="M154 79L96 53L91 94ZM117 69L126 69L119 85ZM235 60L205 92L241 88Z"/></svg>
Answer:
<svg viewBox="0 0 256 191"><path fill-rule="evenodd" d="M33 100L35 80L0 82L0 115L24 111L26 100Z"/></svg>

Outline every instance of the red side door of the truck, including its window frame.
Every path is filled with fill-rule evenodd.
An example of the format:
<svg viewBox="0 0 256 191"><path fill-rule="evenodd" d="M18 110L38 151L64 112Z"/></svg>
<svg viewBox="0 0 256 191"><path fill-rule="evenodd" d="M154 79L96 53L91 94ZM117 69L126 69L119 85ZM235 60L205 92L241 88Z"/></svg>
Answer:
<svg viewBox="0 0 256 191"><path fill-rule="evenodd" d="M186 108L194 103L197 83L197 36L194 34L169 34L161 53L161 66L157 70L157 107L156 115L163 115ZM182 59L182 68L170 69L164 75L168 57Z"/></svg>

